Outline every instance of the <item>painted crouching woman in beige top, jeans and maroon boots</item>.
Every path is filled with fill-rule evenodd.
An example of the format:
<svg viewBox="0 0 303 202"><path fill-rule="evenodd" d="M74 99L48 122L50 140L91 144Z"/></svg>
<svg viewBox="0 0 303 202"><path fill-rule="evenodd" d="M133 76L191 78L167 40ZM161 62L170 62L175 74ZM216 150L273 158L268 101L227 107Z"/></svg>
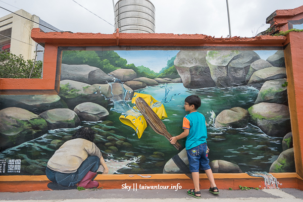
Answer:
<svg viewBox="0 0 303 202"><path fill-rule="evenodd" d="M99 166L103 166L103 174L108 174L109 169L100 149L92 142L93 139L92 129L80 128L49 159L46 167L47 178L64 187L76 184L84 188L98 187L99 183L93 179Z"/></svg>

